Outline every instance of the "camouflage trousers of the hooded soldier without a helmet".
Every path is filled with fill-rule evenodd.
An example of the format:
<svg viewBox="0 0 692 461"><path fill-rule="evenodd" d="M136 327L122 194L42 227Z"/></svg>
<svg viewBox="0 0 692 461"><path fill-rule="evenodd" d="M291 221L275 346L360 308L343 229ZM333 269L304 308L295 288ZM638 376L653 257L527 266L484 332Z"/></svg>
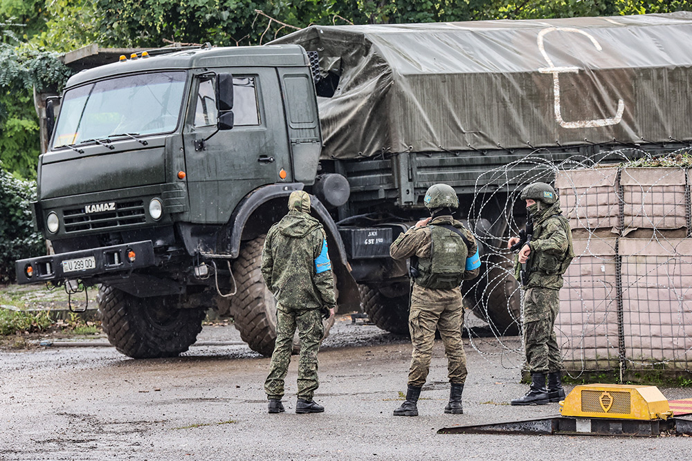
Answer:
<svg viewBox="0 0 692 461"><path fill-rule="evenodd" d="M284 396L284 378L291 363L293 335L298 328L300 358L298 359L298 398L312 400L320 386L317 377L317 352L325 334L319 309L288 309L281 305L276 311L276 343L271 355L269 375L264 382L264 391L269 399Z"/></svg>

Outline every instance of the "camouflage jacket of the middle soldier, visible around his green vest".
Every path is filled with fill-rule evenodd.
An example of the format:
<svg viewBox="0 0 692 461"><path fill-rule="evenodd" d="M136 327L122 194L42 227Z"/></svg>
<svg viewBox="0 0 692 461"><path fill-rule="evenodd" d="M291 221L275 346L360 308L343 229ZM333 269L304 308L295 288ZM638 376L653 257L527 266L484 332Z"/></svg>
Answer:
<svg viewBox="0 0 692 461"><path fill-rule="evenodd" d="M454 227L461 229L466 239L471 242L471 247L468 249L468 254L475 254L478 246L473 238L471 231L466 229L462 223L454 220L451 216L439 216L430 220L430 225L451 224ZM419 258L428 258L432 250L432 238L429 227L411 227L403 234L399 234L397 239L390 246L390 256L394 259L406 259L411 256ZM474 279L480 274L480 269L464 271L464 280ZM462 292L459 288L450 288L448 290L436 290L432 288L423 288L417 283L413 284L413 292L411 294L411 305L446 305L446 304L462 305Z"/></svg>

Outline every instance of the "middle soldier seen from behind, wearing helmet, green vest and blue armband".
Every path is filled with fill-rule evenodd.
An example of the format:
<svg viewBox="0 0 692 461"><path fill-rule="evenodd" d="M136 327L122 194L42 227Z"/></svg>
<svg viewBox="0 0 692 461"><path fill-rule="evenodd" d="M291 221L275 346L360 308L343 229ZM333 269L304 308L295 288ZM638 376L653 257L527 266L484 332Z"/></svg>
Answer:
<svg viewBox="0 0 692 461"><path fill-rule="evenodd" d="M413 290L408 326L413 353L406 401L397 416L417 416L417 402L428 377L435 330L439 330L448 360L449 403L445 413L462 414L466 355L462 342L464 308L459 285L478 276L480 259L471 232L452 218L459 207L454 189L445 184L428 189L424 203L430 218L399 235L390 247L394 259L411 258Z"/></svg>

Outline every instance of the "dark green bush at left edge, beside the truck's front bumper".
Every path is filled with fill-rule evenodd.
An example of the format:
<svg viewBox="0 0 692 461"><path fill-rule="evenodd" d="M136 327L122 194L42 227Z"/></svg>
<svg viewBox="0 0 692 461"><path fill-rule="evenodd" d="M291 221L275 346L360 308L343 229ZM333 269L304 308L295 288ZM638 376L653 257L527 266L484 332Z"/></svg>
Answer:
<svg viewBox="0 0 692 461"><path fill-rule="evenodd" d="M0 162L0 282L15 280L15 260L44 252L43 238L31 221L35 196L35 181L15 178Z"/></svg>

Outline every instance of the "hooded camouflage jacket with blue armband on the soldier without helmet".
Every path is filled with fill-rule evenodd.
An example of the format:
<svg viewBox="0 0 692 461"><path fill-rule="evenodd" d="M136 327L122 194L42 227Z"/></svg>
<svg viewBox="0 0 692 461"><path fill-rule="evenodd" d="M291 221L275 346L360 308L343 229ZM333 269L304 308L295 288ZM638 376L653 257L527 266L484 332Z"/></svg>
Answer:
<svg viewBox="0 0 692 461"><path fill-rule="evenodd" d="M334 308L334 276L327 236L318 220L289 211L266 234L262 276L284 308Z"/></svg>

